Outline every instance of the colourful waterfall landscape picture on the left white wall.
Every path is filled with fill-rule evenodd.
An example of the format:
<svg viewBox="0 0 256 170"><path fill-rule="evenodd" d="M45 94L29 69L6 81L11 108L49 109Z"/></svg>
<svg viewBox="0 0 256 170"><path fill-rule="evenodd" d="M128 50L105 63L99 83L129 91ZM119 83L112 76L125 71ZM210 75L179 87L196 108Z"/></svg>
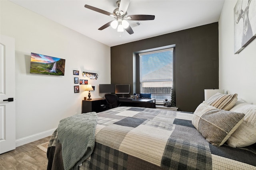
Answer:
<svg viewBox="0 0 256 170"><path fill-rule="evenodd" d="M64 76L65 59L31 53L30 73Z"/></svg>

